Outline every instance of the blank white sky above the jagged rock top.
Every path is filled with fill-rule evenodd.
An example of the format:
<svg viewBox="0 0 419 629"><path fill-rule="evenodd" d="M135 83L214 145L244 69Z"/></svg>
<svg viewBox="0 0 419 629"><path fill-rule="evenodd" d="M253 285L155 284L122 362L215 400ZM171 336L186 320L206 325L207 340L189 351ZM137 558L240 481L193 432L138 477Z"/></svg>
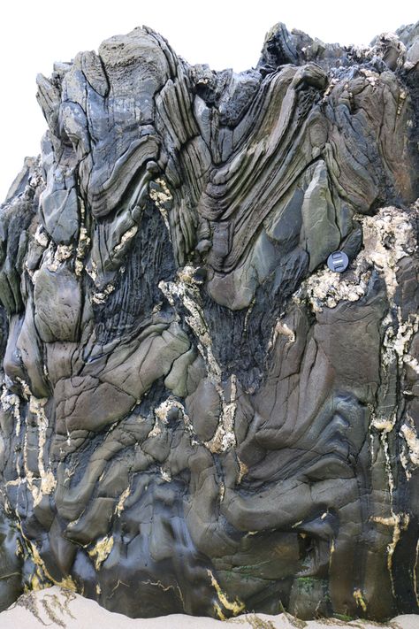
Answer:
<svg viewBox="0 0 419 629"><path fill-rule="evenodd" d="M4 0L0 12L0 200L46 128L35 76L146 25L189 63L245 70L278 21L324 42L369 43L419 19L416 0Z"/></svg>

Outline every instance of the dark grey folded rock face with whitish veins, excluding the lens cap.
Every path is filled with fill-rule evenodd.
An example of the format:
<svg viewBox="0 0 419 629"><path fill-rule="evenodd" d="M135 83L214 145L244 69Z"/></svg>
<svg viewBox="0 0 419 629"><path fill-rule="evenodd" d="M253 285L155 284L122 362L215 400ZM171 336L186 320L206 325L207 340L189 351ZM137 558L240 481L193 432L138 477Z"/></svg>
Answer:
<svg viewBox="0 0 419 629"><path fill-rule="evenodd" d="M418 610L418 59L417 25L279 24L215 73L137 28L38 78L0 218L3 607Z"/></svg>

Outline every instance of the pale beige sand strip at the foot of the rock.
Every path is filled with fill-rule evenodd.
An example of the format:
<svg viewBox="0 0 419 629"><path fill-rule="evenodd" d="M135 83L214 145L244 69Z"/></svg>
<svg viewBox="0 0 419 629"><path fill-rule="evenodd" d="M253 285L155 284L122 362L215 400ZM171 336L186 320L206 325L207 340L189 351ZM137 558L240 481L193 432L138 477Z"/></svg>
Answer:
<svg viewBox="0 0 419 629"><path fill-rule="evenodd" d="M21 596L19 602L0 614L0 629L42 629L45 625L63 629L223 629L223 626L226 629L226 625L230 625L232 629L234 625L237 629L377 629L377 626L382 629L419 629L419 616L399 616L388 625L360 620L346 623L330 619L304 623L285 614L248 614L227 623L181 614L133 620L122 614L103 610L97 602L89 601L79 594L66 593L59 587Z"/></svg>

